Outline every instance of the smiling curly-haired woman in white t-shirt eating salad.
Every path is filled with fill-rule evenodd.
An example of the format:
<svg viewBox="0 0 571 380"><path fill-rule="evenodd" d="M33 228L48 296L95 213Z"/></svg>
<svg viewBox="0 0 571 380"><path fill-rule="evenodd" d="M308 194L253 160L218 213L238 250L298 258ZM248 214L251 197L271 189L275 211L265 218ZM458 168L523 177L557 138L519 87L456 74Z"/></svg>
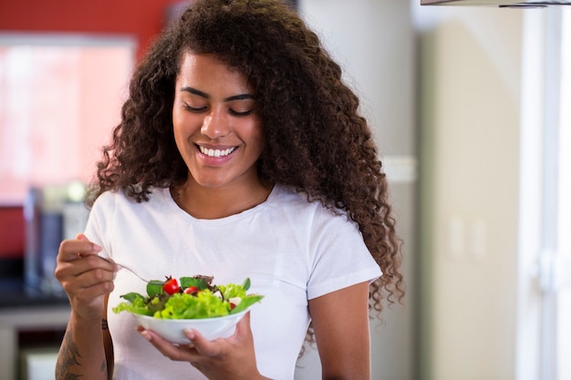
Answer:
<svg viewBox="0 0 571 380"><path fill-rule="evenodd" d="M387 182L340 67L279 1L185 10L134 73L88 204L58 253L57 379L291 380L306 336L324 379L370 378L369 308L403 293ZM265 297L227 339L170 344L111 312L145 286L113 262Z"/></svg>

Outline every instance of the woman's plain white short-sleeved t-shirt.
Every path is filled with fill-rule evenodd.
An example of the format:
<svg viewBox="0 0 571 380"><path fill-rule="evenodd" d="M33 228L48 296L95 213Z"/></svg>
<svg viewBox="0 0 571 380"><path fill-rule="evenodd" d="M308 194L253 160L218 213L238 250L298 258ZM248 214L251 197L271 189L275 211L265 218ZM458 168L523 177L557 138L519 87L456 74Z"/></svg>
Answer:
<svg viewBox="0 0 571 380"><path fill-rule="evenodd" d="M253 209L217 220L182 211L168 189L155 189L137 203L122 192L95 202L86 235L100 253L145 278L213 275L213 283L242 283L263 294L251 309L256 363L262 375L292 380L310 316L307 300L379 277L357 225L334 215L304 194L275 186ZM204 379L192 365L171 362L135 331L129 313L113 313L119 295L145 294L132 273L117 273L109 296L108 322L115 379ZM343 305L339 305L343 307Z"/></svg>

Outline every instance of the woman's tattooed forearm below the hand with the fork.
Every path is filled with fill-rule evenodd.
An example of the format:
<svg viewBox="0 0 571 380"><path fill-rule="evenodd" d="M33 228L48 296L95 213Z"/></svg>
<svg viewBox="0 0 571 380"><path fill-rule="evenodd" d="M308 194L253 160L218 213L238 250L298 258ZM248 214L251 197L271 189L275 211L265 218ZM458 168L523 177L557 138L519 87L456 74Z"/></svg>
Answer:
<svg viewBox="0 0 571 380"><path fill-rule="evenodd" d="M101 320L82 320L74 313L59 348L56 380L109 380Z"/></svg>

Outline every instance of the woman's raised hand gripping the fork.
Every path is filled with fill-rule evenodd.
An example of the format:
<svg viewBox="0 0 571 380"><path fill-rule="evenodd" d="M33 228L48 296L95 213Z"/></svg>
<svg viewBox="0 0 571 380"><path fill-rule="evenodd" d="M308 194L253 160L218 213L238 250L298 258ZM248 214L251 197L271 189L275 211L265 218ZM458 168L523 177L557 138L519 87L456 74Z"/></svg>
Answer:
<svg viewBox="0 0 571 380"><path fill-rule="evenodd" d="M62 241L57 252L56 278L67 293L71 310L86 320L100 319L106 294L113 290L118 268L97 253L99 245L83 234Z"/></svg>

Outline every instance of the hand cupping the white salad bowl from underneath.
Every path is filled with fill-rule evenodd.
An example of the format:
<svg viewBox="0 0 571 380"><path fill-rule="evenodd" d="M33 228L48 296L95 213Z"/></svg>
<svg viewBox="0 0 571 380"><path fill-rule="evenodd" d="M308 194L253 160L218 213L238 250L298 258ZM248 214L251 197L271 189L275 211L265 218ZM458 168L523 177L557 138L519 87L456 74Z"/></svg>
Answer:
<svg viewBox="0 0 571 380"><path fill-rule="evenodd" d="M234 335L212 342L194 330L186 332L191 345L171 344L159 334L141 326L138 331L162 354L171 360L190 362L210 380L265 379L259 374L255 364L249 312L236 325Z"/></svg>

